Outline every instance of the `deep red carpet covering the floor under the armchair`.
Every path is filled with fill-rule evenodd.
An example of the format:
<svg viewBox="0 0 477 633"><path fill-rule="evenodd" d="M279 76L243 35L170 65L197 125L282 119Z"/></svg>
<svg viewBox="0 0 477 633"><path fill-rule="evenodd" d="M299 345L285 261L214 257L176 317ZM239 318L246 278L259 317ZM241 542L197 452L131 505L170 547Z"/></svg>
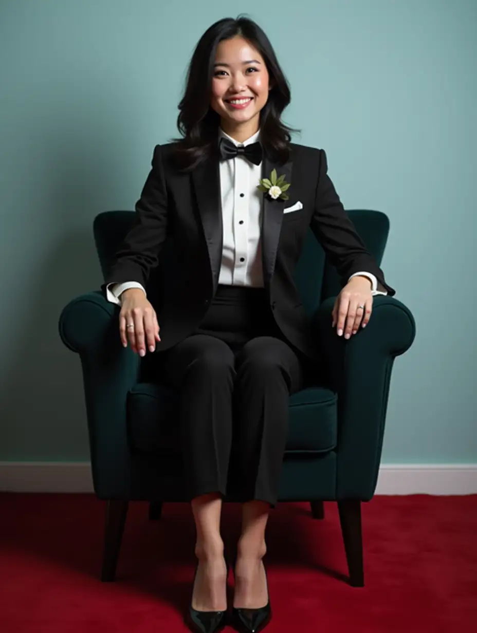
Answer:
<svg viewBox="0 0 477 633"><path fill-rule="evenodd" d="M324 521L282 503L267 527L273 619L267 633L476 630L477 496L376 497L363 506L366 587L347 573L336 504ZM149 633L182 624L194 572L186 504L149 522L130 504L117 581L101 583L105 503L89 494L0 494L1 633ZM232 548L239 505L226 504ZM232 575L229 597L232 598ZM231 603L230 603L231 604ZM224 631L232 631L226 627Z"/></svg>

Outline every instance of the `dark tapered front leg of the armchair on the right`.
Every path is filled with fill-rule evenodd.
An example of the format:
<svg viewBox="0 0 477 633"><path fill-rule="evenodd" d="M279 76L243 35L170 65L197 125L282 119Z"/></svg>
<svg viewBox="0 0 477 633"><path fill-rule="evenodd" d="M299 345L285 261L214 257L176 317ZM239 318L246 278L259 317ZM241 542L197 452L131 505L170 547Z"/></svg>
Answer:
<svg viewBox="0 0 477 633"><path fill-rule="evenodd" d="M338 512L350 572L350 585L364 587L361 502L359 499L341 499L338 501Z"/></svg>

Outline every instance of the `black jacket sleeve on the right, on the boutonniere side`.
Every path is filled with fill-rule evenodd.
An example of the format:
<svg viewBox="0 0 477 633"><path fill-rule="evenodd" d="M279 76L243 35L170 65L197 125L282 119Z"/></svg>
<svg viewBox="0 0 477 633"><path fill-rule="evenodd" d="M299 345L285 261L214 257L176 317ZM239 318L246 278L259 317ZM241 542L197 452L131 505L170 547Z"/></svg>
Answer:
<svg viewBox="0 0 477 633"><path fill-rule="evenodd" d="M395 294L395 290L386 284L383 271L367 251L341 204L328 175L328 161L324 149L319 150L319 176L310 228L336 267L343 286L353 273L366 270L376 277L388 291L388 295Z"/></svg>

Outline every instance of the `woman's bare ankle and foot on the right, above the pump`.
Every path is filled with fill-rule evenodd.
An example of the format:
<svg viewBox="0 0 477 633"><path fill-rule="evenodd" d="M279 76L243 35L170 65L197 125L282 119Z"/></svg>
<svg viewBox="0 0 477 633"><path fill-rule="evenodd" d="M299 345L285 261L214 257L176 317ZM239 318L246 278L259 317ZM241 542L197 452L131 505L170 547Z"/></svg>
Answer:
<svg viewBox="0 0 477 633"><path fill-rule="evenodd" d="M268 602L262 558L267 552L265 527L270 504L247 501L242 506L242 533L237 544L234 607L258 609Z"/></svg>

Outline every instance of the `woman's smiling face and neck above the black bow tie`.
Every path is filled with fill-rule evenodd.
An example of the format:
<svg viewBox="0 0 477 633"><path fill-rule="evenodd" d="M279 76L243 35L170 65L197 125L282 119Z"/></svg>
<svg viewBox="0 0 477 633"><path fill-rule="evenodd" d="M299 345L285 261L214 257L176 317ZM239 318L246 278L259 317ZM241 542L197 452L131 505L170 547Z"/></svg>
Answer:
<svg viewBox="0 0 477 633"><path fill-rule="evenodd" d="M269 73L257 49L242 37L222 40L215 55L210 106L220 115L224 132L243 140L255 134L268 98Z"/></svg>

